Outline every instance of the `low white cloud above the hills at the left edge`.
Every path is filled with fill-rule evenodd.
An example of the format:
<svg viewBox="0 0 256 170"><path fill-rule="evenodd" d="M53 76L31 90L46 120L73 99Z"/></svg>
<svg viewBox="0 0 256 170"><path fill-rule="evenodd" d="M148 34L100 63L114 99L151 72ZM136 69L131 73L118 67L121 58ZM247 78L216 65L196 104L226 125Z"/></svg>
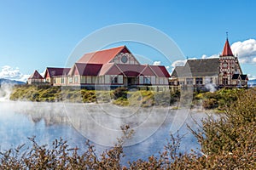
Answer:
<svg viewBox="0 0 256 170"><path fill-rule="evenodd" d="M24 75L20 72L19 68L12 68L9 65L2 66L2 70L0 71L0 78L6 78L10 80L17 80L21 82L26 82L27 78L30 75Z"/></svg>

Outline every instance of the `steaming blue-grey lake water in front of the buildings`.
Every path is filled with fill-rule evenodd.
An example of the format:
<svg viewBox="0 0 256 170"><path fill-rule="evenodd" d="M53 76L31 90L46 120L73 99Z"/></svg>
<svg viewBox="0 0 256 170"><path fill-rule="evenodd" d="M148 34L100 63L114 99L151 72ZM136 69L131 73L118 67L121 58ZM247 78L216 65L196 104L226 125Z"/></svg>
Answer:
<svg viewBox="0 0 256 170"><path fill-rule="evenodd" d="M128 124L135 133L125 142L124 161L134 161L157 156L169 134L177 130L184 135L180 151L196 150L200 145L186 124L196 128L194 119L200 121L205 116L203 112L169 107L0 101L0 147L8 150L19 144L29 145L27 137L34 135L39 144L51 144L61 137L81 152L90 139L101 153L122 135L119 127Z"/></svg>

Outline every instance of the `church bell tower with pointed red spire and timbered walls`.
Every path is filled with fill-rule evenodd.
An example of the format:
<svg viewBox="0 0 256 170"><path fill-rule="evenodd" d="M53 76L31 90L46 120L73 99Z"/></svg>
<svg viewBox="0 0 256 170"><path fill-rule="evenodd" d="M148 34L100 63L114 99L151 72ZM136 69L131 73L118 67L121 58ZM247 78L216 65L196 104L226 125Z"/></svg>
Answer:
<svg viewBox="0 0 256 170"><path fill-rule="evenodd" d="M227 33L223 52L219 56L219 86L230 87L232 85L232 77L234 74L241 75L242 72L237 56L232 53L232 50L230 48L230 42Z"/></svg>

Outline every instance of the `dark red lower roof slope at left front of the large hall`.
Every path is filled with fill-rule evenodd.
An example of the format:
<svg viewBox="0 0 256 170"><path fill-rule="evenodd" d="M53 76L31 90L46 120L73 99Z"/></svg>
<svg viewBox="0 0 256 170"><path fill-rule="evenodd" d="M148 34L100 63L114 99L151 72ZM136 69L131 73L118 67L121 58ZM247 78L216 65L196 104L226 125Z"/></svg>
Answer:
<svg viewBox="0 0 256 170"><path fill-rule="evenodd" d="M97 76L102 69L99 64L75 63L75 66L80 76Z"/></svg>

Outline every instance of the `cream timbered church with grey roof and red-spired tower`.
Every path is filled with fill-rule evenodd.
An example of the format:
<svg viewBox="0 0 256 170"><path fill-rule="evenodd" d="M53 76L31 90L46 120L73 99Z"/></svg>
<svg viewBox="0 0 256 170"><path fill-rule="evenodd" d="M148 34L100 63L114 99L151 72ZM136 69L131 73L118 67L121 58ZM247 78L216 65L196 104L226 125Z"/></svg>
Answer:
<svg viewBox="0 0 256 170"><path fill-rule="evenodd" d="M170 84L194 87L212 84L216 88L224 88L247 87L247 81L247 75L242 73L238 58L232 53L227 38L218 58L188 59L185 65L175 67Z"/></svg>

